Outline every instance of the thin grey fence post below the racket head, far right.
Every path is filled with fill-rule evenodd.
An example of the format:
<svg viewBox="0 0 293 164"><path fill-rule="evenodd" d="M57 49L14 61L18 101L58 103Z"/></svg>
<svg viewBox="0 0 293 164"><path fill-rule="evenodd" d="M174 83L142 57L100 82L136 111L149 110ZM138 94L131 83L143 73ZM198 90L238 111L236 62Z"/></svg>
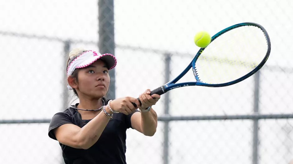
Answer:
<svg viewBox="0 0 293 164"><path fill-rule="evenodd" d="M254 114L259 114L259 74L260 71L256 72L254 75ZM252 163L258 164L258 119L253 119L253 151L252 151Z"/></svg>

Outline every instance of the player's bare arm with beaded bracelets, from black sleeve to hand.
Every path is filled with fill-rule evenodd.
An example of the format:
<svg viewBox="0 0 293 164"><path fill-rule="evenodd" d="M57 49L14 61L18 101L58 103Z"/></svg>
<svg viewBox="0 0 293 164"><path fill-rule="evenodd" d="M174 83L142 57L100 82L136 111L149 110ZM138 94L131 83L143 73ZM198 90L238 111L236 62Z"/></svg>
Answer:
<svg viewBox="0 0 293 164"><path fill-rule="evenodd" d="M136 103L137 106L140 105L136 98L126 97L113 100L110 106L115 111L129 114L135 110L131 102ZM105 110L107 113L112 114L108 106ZM74 124L63 124L54 130L54 134L56 139L63 145L77 149L89 149L100 138L109 120L101 111L82 128Z"/></svg>

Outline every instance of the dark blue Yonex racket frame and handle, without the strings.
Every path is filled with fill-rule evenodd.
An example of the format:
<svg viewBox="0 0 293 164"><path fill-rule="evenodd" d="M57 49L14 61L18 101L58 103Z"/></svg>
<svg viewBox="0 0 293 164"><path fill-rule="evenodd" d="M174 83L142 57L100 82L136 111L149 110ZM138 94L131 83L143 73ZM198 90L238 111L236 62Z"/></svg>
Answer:
<svg viewBox="0 0 293 164"><path fill-rule="evenodd" d="M211 42L214 41L217 37L221 36L222 34L228 32L228 31L230 31L232 29L239 28L239 27L242 27L242 26L255 26L255 27L260 28L263 31L263 33L265 34L265 37L267 39L267 54L265 55L265 57L263 58L261 63L257 67L255 67L252 71L250 71L245 76L242 76L239 79L230 81L228 83L222 83L222 84L207 84L207 83L203 83L203 82L201 82L199 80L198 75L197 75L197 70L196 70L196 67L195 67L196 60L200 56L201 52L203 52L203 50L205 49L205 48L201 48L201 49L198 50L198 53L195 55L195 57L193 58L191 63L184 69L184 71L182 71L182 73L179 74L179 76L177 76L176 78L174 78L170 82L168 82L168 83L166 83L166 84L164 84L164 85L152 90L151 95L153 95L153 94L162 95L162 94L164 94L164 93L166 93L166 92L168 92L168 91L170 91L172 89L185 87L185 86L195 86L195 85L197 85L197 86L205 86L205 87L225 87L225 86L229 86L229 85L232 85L232 84L239 83L240 81L243 81L243 80L247 79L248 77L252 76L261 67L263 67L264 63L266 63L266 61L267 61L267 59L268 59L268 57L270 55L270 52L271 52L271 41L270 41L270 38L269 38L269 36L267 34L267 31L263 28L263 26L261 26L259 24L256 24L256 23L252 23L252 22L235 24L233 26L225 28L222 31L216 33L214 36L212 36ZM194 75L196 81L195 82L184 82L184 83L175 84L179 79L181 79L190 70L190 68L193 69L193 75ZM139 98L137 98L137 99L139 100ZM140 102L140 100L139 100L139 102Z"/></svg>

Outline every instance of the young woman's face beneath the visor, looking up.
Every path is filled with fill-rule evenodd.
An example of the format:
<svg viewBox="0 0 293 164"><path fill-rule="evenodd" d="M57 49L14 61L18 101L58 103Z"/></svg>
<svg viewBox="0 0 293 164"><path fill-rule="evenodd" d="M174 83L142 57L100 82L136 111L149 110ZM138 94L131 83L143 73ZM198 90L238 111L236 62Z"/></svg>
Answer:
<svg viewBox="0 0 293 164"><path fill-rule="evenodd" d="M92 98L105 96L110 84L108 68L102 60L97 60L88 67L78 71L78 96L86 95Z"/></svg>

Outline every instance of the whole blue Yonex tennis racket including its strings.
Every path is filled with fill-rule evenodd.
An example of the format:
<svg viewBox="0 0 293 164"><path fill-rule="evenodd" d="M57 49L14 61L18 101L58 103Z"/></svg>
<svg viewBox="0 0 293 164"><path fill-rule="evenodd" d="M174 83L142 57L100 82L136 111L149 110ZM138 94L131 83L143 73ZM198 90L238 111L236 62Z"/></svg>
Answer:
<svg viewBox="0 0 293 164"><path fill-rule="evenodd" d="M263 26L250 22L235 24L216 33L179 76L152 90L151 95L185 86L225 87L239 83L263 67L270 52L270 38ZM176 83L190 69L194 82Z"/></svg>

